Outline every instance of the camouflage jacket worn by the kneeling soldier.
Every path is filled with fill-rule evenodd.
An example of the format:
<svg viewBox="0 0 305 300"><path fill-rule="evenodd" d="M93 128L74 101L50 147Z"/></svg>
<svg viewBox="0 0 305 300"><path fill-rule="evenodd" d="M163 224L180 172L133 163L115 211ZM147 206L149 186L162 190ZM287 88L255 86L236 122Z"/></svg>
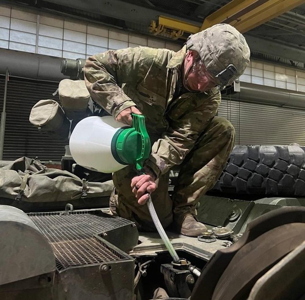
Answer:
<svg viewBox="0 0 305 300"><path fill-rule="evenodd" d="M184 160L221 101L217 88L175 97L185 55L186 46L178 52L136 47L97 54L84 66L89 93L107 112L116 117L136 105L145 116L152 141L145 164L157 177Z"/></svg>

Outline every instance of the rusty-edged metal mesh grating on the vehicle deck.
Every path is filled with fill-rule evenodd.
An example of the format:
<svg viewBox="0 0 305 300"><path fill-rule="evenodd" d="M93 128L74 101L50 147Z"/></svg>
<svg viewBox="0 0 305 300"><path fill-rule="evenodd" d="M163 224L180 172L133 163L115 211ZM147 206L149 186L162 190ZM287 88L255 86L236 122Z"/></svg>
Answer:
<svg viewBox="0 0 305 300"><path fill-rule="evenodd" d="M93 234L130 224L128 220L102 212L96 215L87 211L28 215L51 245L58 270L126 258Z"/></svg>

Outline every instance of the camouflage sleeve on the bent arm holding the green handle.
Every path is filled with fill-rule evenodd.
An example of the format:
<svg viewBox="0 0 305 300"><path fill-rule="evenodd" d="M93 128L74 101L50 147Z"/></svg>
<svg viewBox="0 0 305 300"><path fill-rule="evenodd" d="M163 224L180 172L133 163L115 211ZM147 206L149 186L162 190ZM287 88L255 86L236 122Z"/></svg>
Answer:
<svg viewBox="0 0 305 300"><path fill-rule="evenodd" d="M114 117L130 106L136 105L121 89L122 78L136 82L138 59L136 51L109 50L91 56L84 66L84 77L92 99ZM128 68L128 70L125 70Z"/></svg>

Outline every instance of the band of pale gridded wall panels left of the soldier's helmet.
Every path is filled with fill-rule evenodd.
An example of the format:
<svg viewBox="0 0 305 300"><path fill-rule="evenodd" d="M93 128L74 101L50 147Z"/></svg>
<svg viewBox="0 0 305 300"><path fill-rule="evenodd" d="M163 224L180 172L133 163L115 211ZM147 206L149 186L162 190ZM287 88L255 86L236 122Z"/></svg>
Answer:
<svg viewBox="0 0 305 300"><path fill-rule="evenodd" d="M181 49L177 42L0 5L0 48L75 59L136 46Z"/></svg>

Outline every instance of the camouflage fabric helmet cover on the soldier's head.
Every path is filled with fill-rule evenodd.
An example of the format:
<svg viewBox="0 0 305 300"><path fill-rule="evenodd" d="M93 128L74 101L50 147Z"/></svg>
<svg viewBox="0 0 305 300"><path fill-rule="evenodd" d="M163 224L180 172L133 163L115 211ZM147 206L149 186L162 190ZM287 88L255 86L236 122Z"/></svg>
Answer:
<svg viewBox="0 0 305 300"><path fill-rule="evenodd" d="M229 24L216 24L190 35L186 47L199 53L211 75L216 75L233 64L237 72L225 85L230 85L242 75L250 61L250 49L246 39ZM218 82L218 79L216 81L220 85L223 84Z"/></svg>

